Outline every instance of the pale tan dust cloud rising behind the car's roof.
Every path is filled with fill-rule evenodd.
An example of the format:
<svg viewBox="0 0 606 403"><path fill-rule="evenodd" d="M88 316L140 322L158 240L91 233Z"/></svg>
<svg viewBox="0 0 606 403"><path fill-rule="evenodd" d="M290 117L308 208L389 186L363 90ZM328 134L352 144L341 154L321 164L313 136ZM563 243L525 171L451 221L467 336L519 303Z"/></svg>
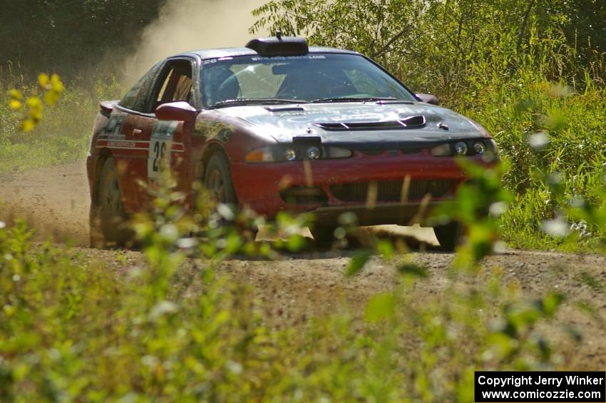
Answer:
<svg viewBox="0 0 606 403"><path fill-rule="evenodd" d="M144 31L125 77L135 81L154 63L183 51L240 47L252 38L251 11L269 0L168 0ZM255 36L266 36L266 32Z"/></svg>

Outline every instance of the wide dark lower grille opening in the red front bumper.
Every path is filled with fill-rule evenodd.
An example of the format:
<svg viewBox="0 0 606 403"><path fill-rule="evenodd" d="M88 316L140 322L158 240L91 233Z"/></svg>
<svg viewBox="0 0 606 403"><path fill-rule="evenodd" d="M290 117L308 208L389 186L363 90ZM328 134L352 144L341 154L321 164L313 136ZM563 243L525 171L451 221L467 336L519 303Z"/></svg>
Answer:
<svg viewBox="0 0 606 403"><path fill-rule="evenodd" d="M339 183L330 186L330 191L335 198L344 202L366 202L369 198L369 190L376 186L377 202L399 202L402 199L402 185L404 180L381 180L374 182ZM441 198L449 195L456 181L441 179L414 179L410 181L407 200L419 200L426 194L432 198Z"/></svg>

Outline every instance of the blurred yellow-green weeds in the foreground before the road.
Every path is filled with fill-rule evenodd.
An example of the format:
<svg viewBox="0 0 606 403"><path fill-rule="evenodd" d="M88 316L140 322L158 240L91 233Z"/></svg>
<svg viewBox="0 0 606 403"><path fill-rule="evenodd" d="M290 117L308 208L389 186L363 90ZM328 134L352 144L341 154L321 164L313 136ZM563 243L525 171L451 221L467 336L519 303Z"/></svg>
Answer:
<svg viewBox="0 0 606 403"><path fill-rule="evenodd" d="M362 315L272 330L248 287L213 269L265 251L247 235L254 215L213 208L204 193L185 215L171 184L165 178L153 213L134 221L147 264L123 272L34 247L23 224L0 223L4 400L467 402L477 368L558 368L538 325L561 295L525 301L498 270L481 280L479 269L454 270L428 294L428 271L385 240L374 243L384 259L403 260L393 291L371 297ZM281 222L277 230L300 233L297 220ZM346 272L370 257L362 252Z"/></svg>

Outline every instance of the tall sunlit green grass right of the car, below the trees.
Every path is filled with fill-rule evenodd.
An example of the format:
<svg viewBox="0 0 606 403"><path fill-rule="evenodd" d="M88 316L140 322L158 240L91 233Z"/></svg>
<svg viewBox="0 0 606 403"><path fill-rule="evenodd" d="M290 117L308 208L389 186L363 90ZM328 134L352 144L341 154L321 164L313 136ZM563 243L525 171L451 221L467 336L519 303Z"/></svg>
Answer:
<svg viewBox="0 0 606 403"><path fill-rule="evenodd" d="M552 83L540 72L523 71L513 82L485 88L464 110L493 133L503 159L503 183L513 195L500 218L500 234L514 248L601 250L600 225L569 217L572 237L542 230L543 221L565 210L570 200L599 203L604 186L606 89L600 81ZM548 143L533 148L531 136ZM576 230L575 230L576 228Z"/></svg>

